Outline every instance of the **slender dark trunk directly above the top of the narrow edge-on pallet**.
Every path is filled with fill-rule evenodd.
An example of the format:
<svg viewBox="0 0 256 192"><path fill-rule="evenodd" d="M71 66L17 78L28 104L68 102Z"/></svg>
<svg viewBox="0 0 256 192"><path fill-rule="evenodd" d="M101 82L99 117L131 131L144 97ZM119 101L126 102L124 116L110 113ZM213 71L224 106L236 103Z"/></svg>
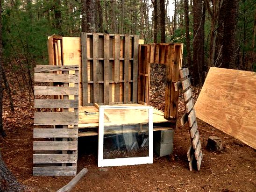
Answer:
<svg viewBox="0 0 256 192"><path fill-rule="evenodd" d="M189 36L189 11L188 11L188 0L184 0L184 11L185 11L185 31L186 31L186 51L187 51L187 67L191 67L191 51L190 51L190 36Z"/></svg>

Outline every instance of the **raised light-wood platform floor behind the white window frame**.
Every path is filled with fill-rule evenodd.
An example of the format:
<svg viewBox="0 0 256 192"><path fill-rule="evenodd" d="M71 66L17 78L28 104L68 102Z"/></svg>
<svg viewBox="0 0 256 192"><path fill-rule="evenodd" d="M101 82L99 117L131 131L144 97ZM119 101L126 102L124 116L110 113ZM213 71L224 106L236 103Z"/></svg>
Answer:
<svg viewBox="0 0 256 192"><path fill-rule="evenodd" d="M143 106L142 104L120 104L112 106ZM107 126L145 124L148 120L147 111L143 110L118 110L108 109L105 113L105 122ZM172 121L164 119L164 113L153 108L153 124L154 130L169 130ZM173 121L175 125L175 121ZM98 135L99 127L99 108L96 106L79 107L78 136Z"/></svg>

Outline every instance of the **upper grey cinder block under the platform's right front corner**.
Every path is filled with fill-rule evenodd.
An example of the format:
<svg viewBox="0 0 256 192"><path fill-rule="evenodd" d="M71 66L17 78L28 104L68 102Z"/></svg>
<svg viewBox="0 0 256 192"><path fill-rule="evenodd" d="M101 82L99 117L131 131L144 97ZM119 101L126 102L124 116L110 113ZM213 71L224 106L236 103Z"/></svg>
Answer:
<svg viewBox="0 0 256 192"><path fill-rule="evenodd" d="M173 143L174 129L154 131L154 141L160 144Z"/></svg>

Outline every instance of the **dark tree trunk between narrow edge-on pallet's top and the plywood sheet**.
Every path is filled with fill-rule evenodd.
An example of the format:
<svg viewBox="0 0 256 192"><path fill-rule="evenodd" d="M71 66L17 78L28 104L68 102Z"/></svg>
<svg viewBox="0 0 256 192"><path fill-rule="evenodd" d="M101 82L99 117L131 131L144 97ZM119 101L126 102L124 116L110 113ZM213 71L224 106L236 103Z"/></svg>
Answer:
<svg viewBox="0 0 256 192"><path fill-rule="evenodd" d="M193 1L193 70L192 77L194 79L194 85L202 83L202 67L203 67L203 0L194 0Z"/></svg>

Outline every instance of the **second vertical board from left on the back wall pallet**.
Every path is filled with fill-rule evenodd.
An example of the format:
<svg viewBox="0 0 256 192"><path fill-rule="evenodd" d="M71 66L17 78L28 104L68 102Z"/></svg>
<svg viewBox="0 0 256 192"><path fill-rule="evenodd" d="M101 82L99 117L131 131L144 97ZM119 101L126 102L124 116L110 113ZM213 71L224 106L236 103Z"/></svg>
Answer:
<svg viewBox="0 0 256 192"><path fill-rule="evenodd" d="M93 103L99 102L99 36L93 33L92 35L92 54L93 54Z"/></svg>

